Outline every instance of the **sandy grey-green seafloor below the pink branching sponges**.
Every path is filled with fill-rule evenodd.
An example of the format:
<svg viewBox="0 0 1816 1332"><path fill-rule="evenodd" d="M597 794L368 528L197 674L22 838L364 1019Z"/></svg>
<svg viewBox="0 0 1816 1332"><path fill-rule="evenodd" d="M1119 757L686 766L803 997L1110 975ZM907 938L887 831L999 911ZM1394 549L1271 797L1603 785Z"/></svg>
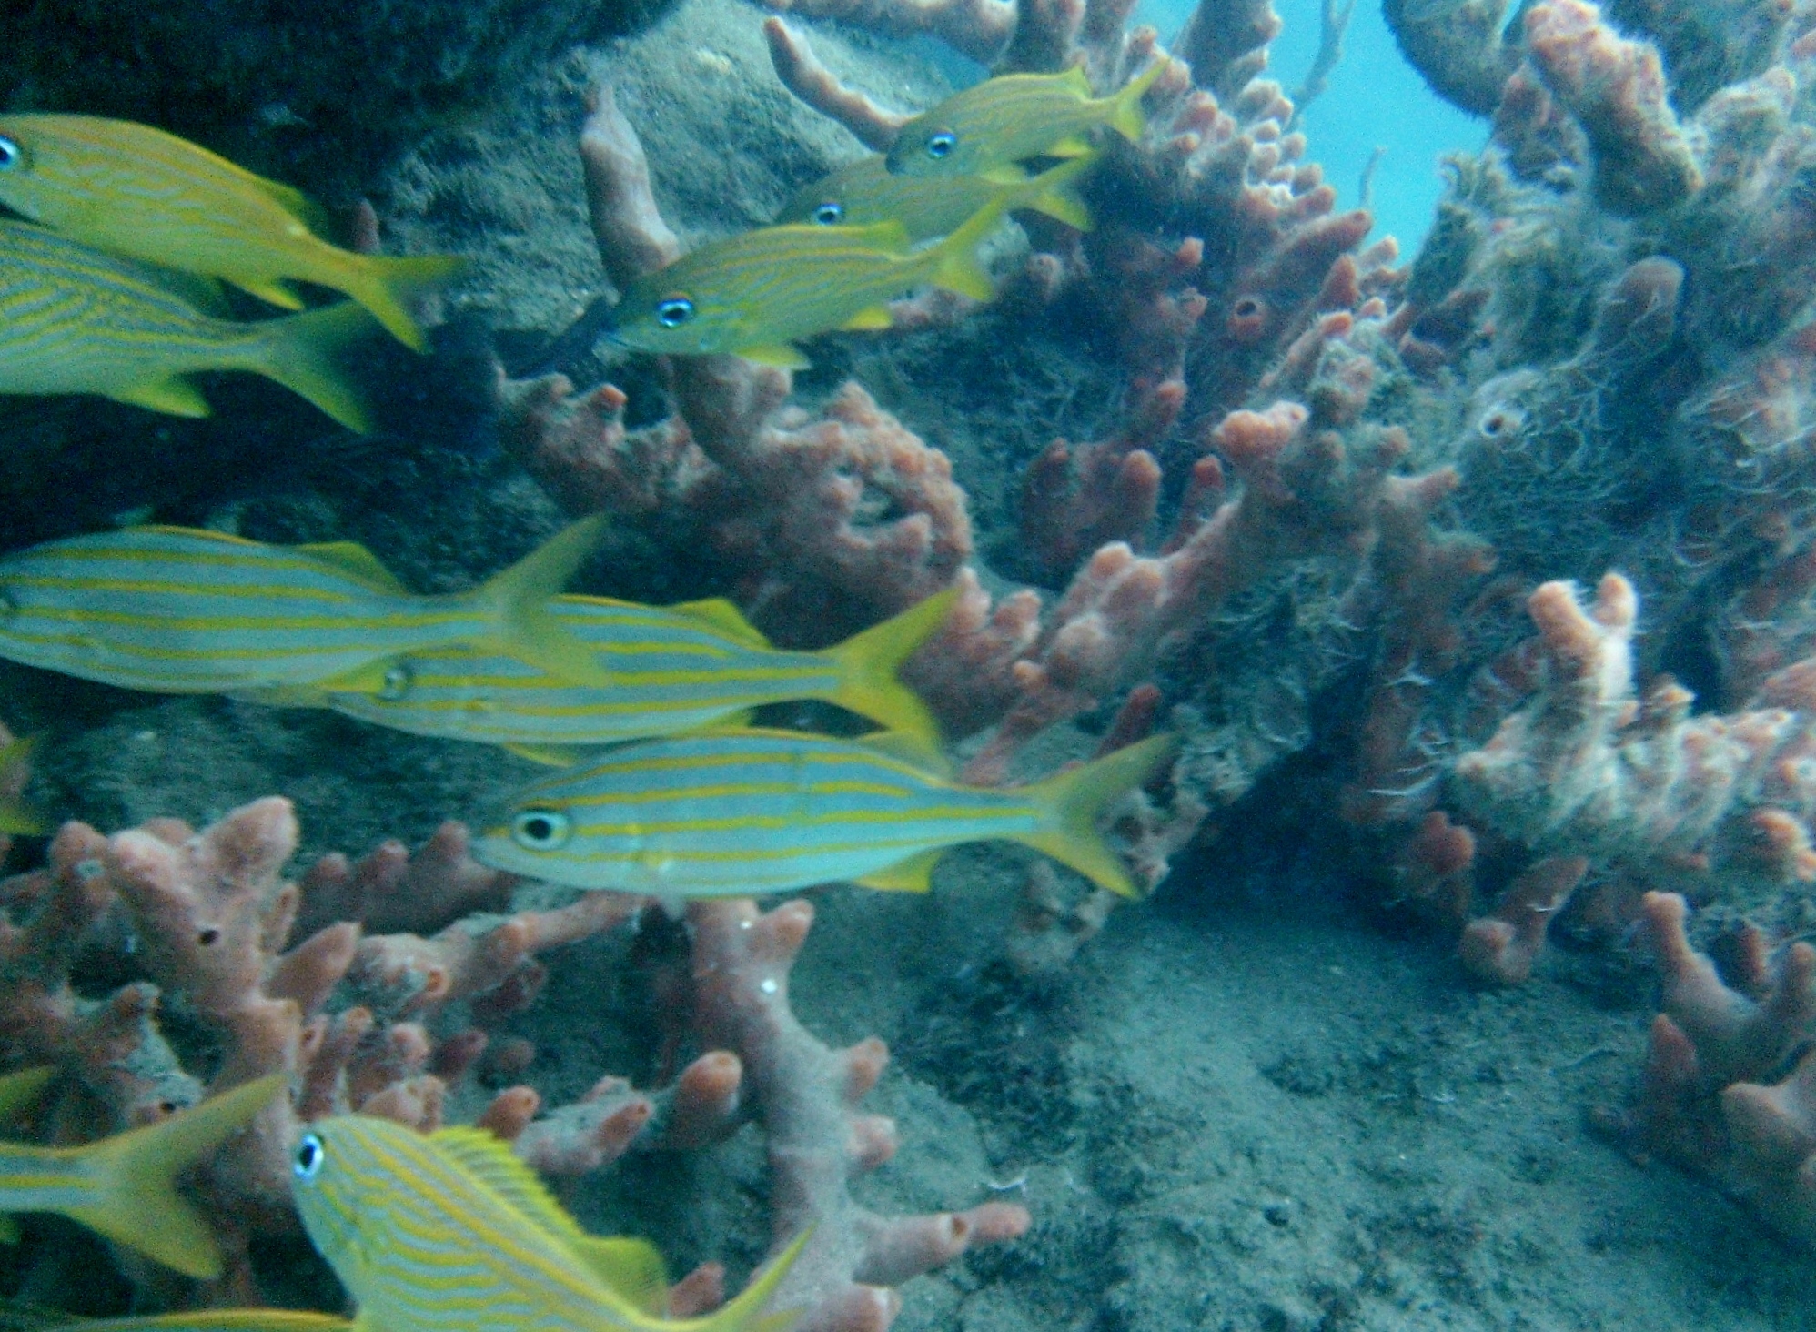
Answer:
<svg viewBox="0 0 1816 1332"><path fill-rule="evenodd" d="M988 963L1012 861L961 852L926 900L810 894L795 1012L895 1054L864 1108L901 1150L859 1196L1035 1218L904 1287L901 1332L1816 1328L1816 1259L1589 1127L1643 1059L1651 1005L1611 998L1633 978L1554 950L1524 987L1473 990L1435 939L1175 880L1028 983ZM525 1016L541 1070L597 1067L599 947L558 958ZM677 1270L735 1268L763 1238L761 1161L745 1130L570 1201L661 1234Z"/></svg>

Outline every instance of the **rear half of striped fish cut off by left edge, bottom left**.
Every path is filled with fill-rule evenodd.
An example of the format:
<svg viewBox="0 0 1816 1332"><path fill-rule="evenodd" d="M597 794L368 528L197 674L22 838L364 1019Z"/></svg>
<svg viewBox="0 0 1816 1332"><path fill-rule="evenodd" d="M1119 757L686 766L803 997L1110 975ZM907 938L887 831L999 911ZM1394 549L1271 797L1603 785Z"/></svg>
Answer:
<svg viewBox="0 0 1816 1332"><path fill-rule="evenodd" d="M0 1103L35 1098L53 1076L51 1069L31 1069L0 1078ZM260 1078L87 1147L0 1143L0 1212L58 1212L185 1276L216 1277L220 1248L202 1216L176 1194L176 1176L245 1128L283 1085L281 1074ZM0 1239L16 1241L15 1223L0 1219Z"/></svg>

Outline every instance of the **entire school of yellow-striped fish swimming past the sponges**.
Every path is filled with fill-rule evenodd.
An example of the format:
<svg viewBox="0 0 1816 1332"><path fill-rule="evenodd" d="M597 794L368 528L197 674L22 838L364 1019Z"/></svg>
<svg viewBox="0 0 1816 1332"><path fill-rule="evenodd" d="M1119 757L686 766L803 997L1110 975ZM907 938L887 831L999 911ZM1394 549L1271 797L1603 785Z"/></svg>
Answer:
<svg viewBox="0 0 1816 1332"><path fill-rule="evenodd" d="M1159 64L1108 98L1084 75L988 80L913 118L895 147L803 189L777 225L696 249L630 285L607 336L659 354L804 365L801 343L883 329L937 285L993 294L977 249L1019 209L1088 229L1079 184L1099 127L1137 138ZM1057 165L1053 164L1057 160ZM0 114L0 393L93 393L202 416L202 371L263 374L369 429L347 351L383 327L421 351L416 296L463 260L385 260L321 240L301 193L149 125ZM352 300L305 309L305 282ZM227 283L291 311L232 318ZM421 596L350 542L278 547L123 527L0 556L0 656L105 685L325 707L563 765L487 820L487 865L581 890L697 896L850 881L926 890L959 843L1013 840L1137 896L1099 834L1106 807L1173 754L1128 745L1019 789L953 780L899 667L952 594L819 652L770 645L728 601L648 607L565 594L599 538L576 523L470 592ZM854 740L752 727L819 700L879 727ZM22 761L20 741L0 769ZM0 830L40 832L24 807ZM45 1070L0 1079L0 1118ZM0 1143L0 1212L51 1210L189 1276L220 1270L173 1178L242 1128L269 1078L82 1148ZM307 1128L292 1192L352 1319L225 1308L89 1321L87 1332L783 1332L770 1310L806 1236L717 1314L666 1314L661 1257L597 1238L489 1134L361 1116ZM4 1218L0 1218L4 1221ZM9 1223L7 1223L9 1225ZM0 1230L0 1236L5 1232Z"/></svg>

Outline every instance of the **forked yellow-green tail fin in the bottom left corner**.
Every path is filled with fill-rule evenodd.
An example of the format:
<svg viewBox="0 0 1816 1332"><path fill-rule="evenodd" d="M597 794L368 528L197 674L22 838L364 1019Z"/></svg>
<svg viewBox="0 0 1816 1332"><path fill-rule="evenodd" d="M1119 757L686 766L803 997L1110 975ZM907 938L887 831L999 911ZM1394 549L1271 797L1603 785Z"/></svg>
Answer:
<svg viewBox="0 0 1816 1332"><path fill-rule="evenodd" d="M283 1074L260 1078L162 1123L74 1148L71 1156L96 1188L93 1203L67 1216L183 1276L220 1276L214 1234L176 1192L176 1176L245 1128L283 1083Z"/></svg>

